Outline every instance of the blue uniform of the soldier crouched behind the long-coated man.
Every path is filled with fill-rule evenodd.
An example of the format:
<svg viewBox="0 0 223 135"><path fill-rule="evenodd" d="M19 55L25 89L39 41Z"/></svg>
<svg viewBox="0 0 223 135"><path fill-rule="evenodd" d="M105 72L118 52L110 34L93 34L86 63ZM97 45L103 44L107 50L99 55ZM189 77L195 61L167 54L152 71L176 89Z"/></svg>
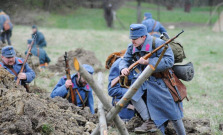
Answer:
<svg viewBox="0 0 223 135"><path fill-rule="evenodd" d="M117 59L113 64L109 72L108 77L108 95L113 97L112 104L115 105L127 92L128 89L123 88L120 84L116 84L113 88L111 87L111 81L119 76L119 63L121 58ZM129 104L127 104L120 112L119 116L123 120L130 120L135 115L135 111L132 109L127 108Z"/></svg>

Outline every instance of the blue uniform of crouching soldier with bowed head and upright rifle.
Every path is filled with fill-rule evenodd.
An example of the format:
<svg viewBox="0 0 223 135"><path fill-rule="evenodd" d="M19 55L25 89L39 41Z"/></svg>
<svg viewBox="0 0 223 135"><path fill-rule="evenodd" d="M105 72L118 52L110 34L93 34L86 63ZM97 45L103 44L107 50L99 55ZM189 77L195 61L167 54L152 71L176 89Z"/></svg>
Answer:
<svg viewBox="0 0 223 135"><path fill-rule="evenodd" d="M90 74L93 74L94 69L91 66L89 66L87 64L84 64L83 67ZM73 82L73 89L77 89L79 91L80 96L82 97L83 100L85 100L85 98L87 98L85 105L90 107L91 113L94 114L94 100L93 100L92 88L89 86L89 84L87 84L84 87L79 87L77 85L76 78L77 78L77 74L71 75L71 80ZM66 95L68 94L68 89L65 86L66 80L67 80L66 76L62 77L59 80L59 82L54 87L54 89L53 89L53 91L50 95L52 98L54 98L56 96L60 96L60 97L63 97L63 98L66 97ZM77 106L83 106L83 104L81 102L81 99L80 99L80 97L77 93L76 93L76 101L77 101ZM69 99L69 102L71 102L71 99Z"/></svg>

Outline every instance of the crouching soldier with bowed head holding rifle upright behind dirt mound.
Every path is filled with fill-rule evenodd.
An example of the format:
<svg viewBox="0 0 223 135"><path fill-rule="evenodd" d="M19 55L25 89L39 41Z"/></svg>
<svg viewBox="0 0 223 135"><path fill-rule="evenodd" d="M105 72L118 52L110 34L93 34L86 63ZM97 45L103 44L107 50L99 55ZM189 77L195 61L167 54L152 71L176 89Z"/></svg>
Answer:
<svg viewBox="0 0 223 135"><path fill-rule="evenodd" d="M82 65L90 74L94 73L93 67L87 64ZM65 98L68 94L69 86L73 87L73 90L76 91L76 101L77 106L90 107L91 113L94 114L94 100L92 88L87 84L87 82L81 77L79 73L75 73L71 75L71 80L68 80L66 76L62 77L57 85L54 87L51 97L54 98L56 96L60 96ZM71 98L68 98L69 102L71 102Z"/></svg>

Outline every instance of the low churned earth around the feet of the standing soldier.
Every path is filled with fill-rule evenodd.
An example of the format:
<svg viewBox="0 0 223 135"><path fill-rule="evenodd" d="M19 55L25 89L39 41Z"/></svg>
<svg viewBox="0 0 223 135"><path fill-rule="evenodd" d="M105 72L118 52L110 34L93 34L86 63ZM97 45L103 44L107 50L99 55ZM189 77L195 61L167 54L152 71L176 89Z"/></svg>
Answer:
<svg viewBox="0 0 223 135"><path fill-rule="evenodd" d="M210 128L210 121L207 119L183 119L184 126L186 129L187 135L194 135L194 134L205 134L211 135L211 128ZM127 124L126 128L128 131L134 131L136 127L141 126L142 120L140 117L133 117ZM176 135L176 132L173 128L172 123L170 122L165 131L166 135ZM155 133L150 133L148 135L154 135Z"/></svg>

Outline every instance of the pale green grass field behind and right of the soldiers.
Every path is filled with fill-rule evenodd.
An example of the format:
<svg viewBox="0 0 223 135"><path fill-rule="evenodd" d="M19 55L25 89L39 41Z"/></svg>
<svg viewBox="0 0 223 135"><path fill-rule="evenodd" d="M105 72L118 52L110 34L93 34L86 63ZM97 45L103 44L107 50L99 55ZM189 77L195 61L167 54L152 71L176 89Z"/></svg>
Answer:
<svg viewBox="0 0 223 135"><path fill-rule="evenodd" d="M104 62L107 56L127 48L130 40L128 31L121 30L68 30L57 28L41 28L48 42L45 48L52 63L65 51L82 47L91 50L96 57ZM168 30L170 36L179 33L180 29ZM15 26L12 42L17 50L24 52L26 39L30 37L29 27ZM184 101L184 115L189 118L207 118L211 122L213 134L220 135L219 123L223 122L223 33L214 33L207 28L186 28L178 38L185 49L187 58L184 63L192 61L195 67L195 77L187 86L189 102ZM104 72L105 91L107 94L108 70ZM37 85L51 92L61 76L46 70L40 73ZM95 76L96 78L96 76Z"/></svg>

